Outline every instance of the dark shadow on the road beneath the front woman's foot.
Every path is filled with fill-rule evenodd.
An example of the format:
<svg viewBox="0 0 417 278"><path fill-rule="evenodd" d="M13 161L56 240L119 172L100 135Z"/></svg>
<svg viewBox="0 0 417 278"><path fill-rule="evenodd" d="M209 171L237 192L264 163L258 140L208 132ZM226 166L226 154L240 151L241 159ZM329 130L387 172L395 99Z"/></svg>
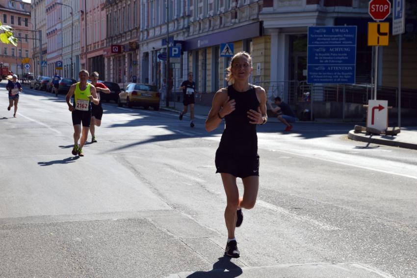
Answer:
<svg viewBox="0 0 417 278"><path fill-rule="evenodd" d="M197 271L188 275L187 278L235 278L242 273L243 270L231 262L231 257L223 256L213 264L212 270Z"/></svg>

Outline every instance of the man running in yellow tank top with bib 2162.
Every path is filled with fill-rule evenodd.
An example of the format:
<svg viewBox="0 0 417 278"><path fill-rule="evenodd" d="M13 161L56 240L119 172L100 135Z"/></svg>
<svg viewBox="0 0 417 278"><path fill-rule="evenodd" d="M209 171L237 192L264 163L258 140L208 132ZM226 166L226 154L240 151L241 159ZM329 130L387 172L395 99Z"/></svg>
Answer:
<svg viewBox="0 0 417 278"><path fill-rule="evenodd" d="M90 130L91 121L91 102L99 104L100 100L97 98L96 88L87 83L89 74L86 70L81 70L78 74L80 82L72 84L66 96L68 110L72 113L74 125L74 148L73 155L84 156L82 147L87 140L88 131ZM74 103L71 105L70 100L74 95ZM79 141L82 123L82 136Z"/></svg>

